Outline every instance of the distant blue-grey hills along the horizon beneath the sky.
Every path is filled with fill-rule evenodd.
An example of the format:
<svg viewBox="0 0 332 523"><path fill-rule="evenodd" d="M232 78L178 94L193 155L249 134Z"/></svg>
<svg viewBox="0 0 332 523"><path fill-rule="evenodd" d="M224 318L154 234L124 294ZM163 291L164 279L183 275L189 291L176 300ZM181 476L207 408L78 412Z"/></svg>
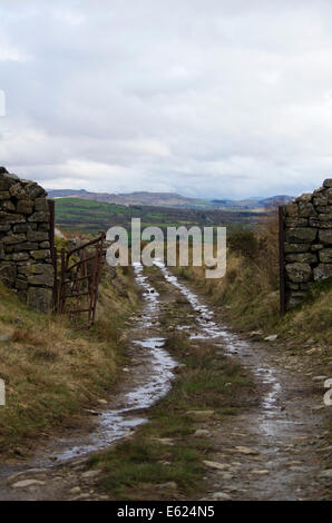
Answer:
<svg viewBox="0 0 332 523"><path fill-rule="evenodd" d="M50 198L79 198L85 200L116 204L124 206L143 205L154 207L225 209L225 210L261 210L293 199L291 196L279 195L270 198L248 198L243 200L188 198L176 193L136 191L128 194L89 193L85 189L49 189Z"/></svg>

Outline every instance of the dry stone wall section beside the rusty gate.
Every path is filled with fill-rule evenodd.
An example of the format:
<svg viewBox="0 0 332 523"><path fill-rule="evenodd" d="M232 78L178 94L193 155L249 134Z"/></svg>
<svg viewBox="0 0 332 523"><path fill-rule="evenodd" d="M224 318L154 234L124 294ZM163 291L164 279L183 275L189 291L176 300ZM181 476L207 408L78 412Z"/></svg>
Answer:
<svg viewBox="0 0 332 523"><path fill-rule="evenodd" d="M51 310L53 287L46 196L0 167L0 279L40 313Z"/></svg>

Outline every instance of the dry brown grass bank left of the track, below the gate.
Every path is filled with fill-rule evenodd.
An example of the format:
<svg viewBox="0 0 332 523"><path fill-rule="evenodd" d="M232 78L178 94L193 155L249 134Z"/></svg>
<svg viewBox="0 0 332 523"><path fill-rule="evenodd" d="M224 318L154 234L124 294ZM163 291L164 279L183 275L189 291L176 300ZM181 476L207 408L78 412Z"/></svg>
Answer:
<svg viewBox="0 0 332 523"><path fill-rule="evenodd" d="M124 288L127 278L119 277ZM130 293L131 303L105 282L96 325L75 330L65 317L28 310L0 285L0 333L8 337L0 341L0 377L7 393L7 405L0 407L0 452L32 444L37 434L107 394L121 355L119 333L133 313L133 283Z"/></svg>

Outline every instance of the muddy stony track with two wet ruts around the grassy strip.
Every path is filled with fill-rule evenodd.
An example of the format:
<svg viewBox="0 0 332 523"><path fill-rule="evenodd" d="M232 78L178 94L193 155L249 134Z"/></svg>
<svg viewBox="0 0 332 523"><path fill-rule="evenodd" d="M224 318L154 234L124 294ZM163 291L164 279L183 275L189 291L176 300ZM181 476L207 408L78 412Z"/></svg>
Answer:
<svg viewBox="0 0 332 523"><path fill-rule="evenodd" d="M177 363L164 348L167 337L160 313L179 296L189 304L185 322L174 325L191 343L209 343L216 357L235 358L252 373L257 402L222 423L197 421L212 443L205 461L204 500L329 500L331 474L324 461L331 447L324 442L329 408L323 407L321 384L283 346L245 341L226 328L218 313L162 263L154 278L136 266L144 289L144 307L133 318L128 358L117 394L90 413L87 426L76 427L50 442L29 462L3 463L0 500L107 500L98 492L98 471L86 470L86 457L123 441L148 422L148 408L167 394ZM158 284L158 285L156 285ZM185 309L187 310L187 309ZM169 327L168 327L169 328ZM310 373L307 373L310 374ZM331 471L330 471L331 472ZM175 492L173 499L182 499Z"/></svg>

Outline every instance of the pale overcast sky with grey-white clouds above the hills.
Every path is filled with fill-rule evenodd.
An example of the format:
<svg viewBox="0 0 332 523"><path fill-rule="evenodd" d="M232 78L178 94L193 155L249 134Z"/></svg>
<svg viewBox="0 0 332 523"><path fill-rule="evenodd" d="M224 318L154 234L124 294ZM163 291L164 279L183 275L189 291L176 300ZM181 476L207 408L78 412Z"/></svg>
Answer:
<svg viewBox="0 0 332 523"><path fill-rule="evenodd" d="M332 177L331 0L1 0L0 165L51 188L297 195Z"/></svg>

